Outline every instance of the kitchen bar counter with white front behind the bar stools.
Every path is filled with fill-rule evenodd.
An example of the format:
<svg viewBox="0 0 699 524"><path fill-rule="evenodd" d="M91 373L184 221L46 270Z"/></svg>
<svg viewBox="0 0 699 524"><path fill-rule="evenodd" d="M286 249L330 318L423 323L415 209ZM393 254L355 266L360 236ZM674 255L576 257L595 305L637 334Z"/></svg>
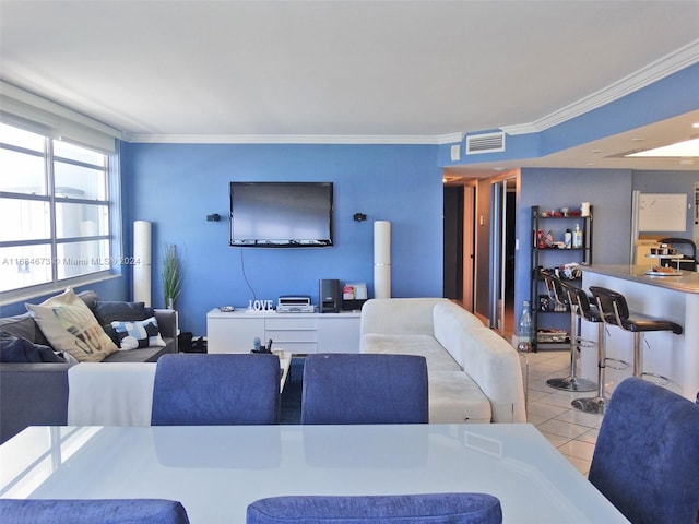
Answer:
<svg viewBox="0 0 699 524"><path fill-rule="evenodd" d="M643 368L671 379L666 385L689 400L699 392L699 273L683 271L677 276L650 276L648 267L591 265L582 267L582 286L601 286L620 293L632 311L677 322L683 333L648 332L643 335ZM582 336L596 341L596 326L582 322ZM607 327L607 356L632 361L632 333ZM583 377L596 380L596 352L583 352ZM631 369L607 367L607 390L631 374Z"/></svg>

